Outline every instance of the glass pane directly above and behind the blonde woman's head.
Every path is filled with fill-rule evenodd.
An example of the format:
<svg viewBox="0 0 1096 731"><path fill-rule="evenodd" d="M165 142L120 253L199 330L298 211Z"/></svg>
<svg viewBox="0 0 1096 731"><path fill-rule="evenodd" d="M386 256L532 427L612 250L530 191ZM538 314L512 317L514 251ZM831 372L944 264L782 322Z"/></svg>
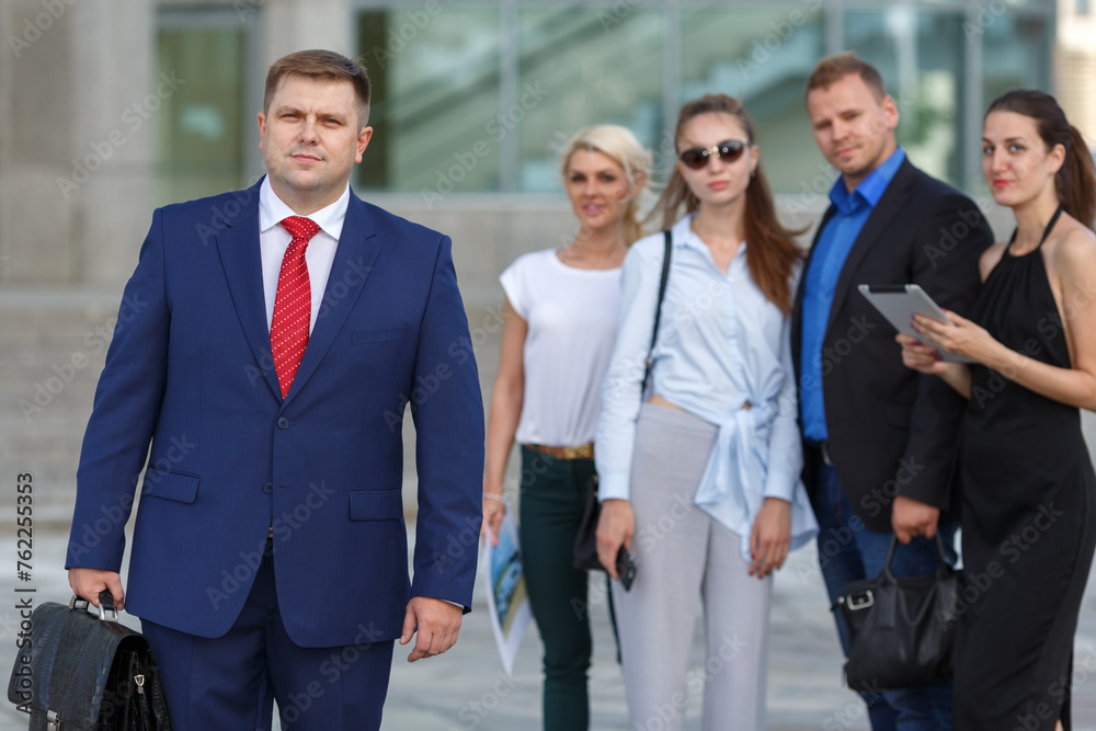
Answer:
<svg viewBox="0 0 1096 731"><path fill-rule="evenodd" d="M663 13L621 7L520 13L520 96L495 126L517 135L518 190L561 190L559 150L586 125L624 125L657 147Z"/></svg>

